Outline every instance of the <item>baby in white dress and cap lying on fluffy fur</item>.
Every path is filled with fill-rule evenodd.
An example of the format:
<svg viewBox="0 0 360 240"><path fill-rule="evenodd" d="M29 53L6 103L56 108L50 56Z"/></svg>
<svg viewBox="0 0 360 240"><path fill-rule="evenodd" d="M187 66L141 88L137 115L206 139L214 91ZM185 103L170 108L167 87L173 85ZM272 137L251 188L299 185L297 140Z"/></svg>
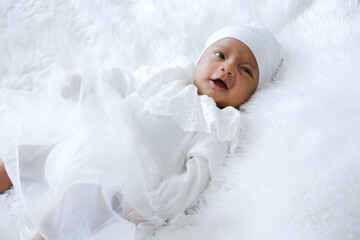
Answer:
<svg viewBox="0 0 360 240"><path fill-rule="evenodd" d="M17 117L19 93L4 91L4 112L14 117L0 117L0 192L11 179L35 238L133 239L135 225L153 229L196 204L238 145L237 108L271 79L281 51L251 23L215 32L200 56L196 69L142 68L135 79L112 70L80 97L80 109L22 93L32 111ZM123 82L121 93L112 79ZM136 90L124 91L134 81Z"/></svg>

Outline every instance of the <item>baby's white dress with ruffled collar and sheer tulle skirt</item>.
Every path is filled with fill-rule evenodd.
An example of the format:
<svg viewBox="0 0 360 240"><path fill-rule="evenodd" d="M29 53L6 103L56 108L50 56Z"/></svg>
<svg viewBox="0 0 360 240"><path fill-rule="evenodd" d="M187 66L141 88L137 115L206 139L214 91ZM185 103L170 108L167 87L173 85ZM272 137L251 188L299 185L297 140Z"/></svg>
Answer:
<svg viewBox="0 0 360 240"><path fill-rule="evenodd" d="M130 209L146 230L196 203L238 144L240 112L199 96L193 70L82 74L62 96L1 91L0 158L46 239L134 239Z"/></svg>

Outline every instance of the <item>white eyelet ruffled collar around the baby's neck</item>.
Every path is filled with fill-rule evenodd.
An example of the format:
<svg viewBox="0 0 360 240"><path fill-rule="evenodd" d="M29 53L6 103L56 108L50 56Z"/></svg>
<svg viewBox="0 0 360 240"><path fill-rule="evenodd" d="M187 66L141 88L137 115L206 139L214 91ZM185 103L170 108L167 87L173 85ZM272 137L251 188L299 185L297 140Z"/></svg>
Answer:
<svg viewBox="0 0 360 240"><path fill-rule="evenodd" d="M138 79L136 89L152 114L171 116L184 131L215 132L222 142L230 142L230 152L239 143L240 111L219 109L215 101L198 95L192 84L193 65L166 68Z"/></svg>

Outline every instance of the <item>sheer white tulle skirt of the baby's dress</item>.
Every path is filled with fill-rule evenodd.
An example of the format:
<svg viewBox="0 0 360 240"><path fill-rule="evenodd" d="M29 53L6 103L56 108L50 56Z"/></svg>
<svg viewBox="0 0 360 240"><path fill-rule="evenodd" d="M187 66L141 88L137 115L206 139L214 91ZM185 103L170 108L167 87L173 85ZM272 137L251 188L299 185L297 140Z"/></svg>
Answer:
<svg viewBox="0 0 360 240"><path fill-rule="evenodd" d="M147 220L140 228L162 223L147 195L157 182L122 96L106 79L84 79L67 98L3 90L0 158L46 239L133 239L131 209Z"/></svg>

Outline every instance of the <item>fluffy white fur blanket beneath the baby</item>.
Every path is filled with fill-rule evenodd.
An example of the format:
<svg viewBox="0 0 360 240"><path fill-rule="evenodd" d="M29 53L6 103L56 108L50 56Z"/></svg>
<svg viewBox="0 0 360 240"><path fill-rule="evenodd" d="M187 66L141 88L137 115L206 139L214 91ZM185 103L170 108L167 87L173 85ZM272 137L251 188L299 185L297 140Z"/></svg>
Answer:
<svg viewBox="0 0 360 240"><path fill-rule="evenodd" d="M244 106L241 148L193 214L139 239L360 239L358 0L5 0L0 86L55 91L82 66L194 60L209 33L253 20L286 59ZM14 190L0 216L0 239L31 238Z"/></svg>

